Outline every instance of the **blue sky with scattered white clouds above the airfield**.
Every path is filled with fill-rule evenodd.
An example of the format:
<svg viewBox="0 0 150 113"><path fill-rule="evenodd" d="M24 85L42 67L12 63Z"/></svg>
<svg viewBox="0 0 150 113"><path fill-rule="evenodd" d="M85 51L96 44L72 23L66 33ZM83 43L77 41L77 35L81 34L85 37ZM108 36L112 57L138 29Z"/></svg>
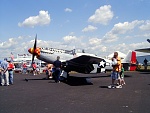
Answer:
<svg viewBox="0 0 150 113"><path fill-rule="evenodd" d="M149 12L149 0L0 0L0 59L27 54L36 34L38 47L100 57L149 48Z"/></svg>

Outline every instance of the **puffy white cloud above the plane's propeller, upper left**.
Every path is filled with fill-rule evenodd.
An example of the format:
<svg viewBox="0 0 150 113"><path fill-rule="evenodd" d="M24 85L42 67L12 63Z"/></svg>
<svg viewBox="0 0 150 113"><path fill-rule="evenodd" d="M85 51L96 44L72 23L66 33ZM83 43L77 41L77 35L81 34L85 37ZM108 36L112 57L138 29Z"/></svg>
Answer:
<svg viewBox="0 0 150 113"><path fill-rule="evenodd" d="M50 24L51 18L48 11L39 11L39 15L37 16L30 16L29 18L25 19L22 23L18 23L19 27L32 27L35 26L43 26Z"/></svg>

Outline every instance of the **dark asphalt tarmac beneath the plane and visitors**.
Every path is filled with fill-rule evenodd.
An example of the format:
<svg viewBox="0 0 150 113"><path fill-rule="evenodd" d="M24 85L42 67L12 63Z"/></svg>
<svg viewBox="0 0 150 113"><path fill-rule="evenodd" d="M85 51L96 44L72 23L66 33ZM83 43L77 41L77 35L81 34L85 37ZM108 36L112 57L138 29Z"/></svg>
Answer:
<svg viewBox="0 0 150 113"><path fill-rule="evenodd" d="M125 72L122 89L108 89L110 73L72 73L68 81L45 74L14 74L0 86L0 113L149 113L150 72Z"/></svg>

